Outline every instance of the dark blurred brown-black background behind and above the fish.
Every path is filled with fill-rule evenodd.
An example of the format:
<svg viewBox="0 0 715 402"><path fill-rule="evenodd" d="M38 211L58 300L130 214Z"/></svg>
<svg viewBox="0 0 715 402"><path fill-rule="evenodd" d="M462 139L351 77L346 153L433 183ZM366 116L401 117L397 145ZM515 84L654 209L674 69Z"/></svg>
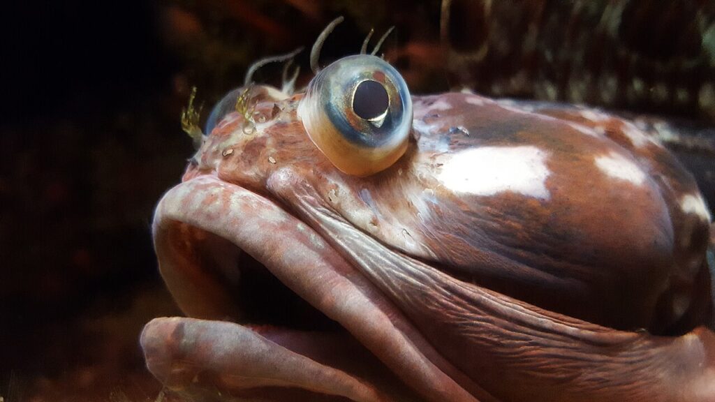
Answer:
<svg viewBox="0 0 715 402"><path fill-rule="evenodd" d="M152 209L179 181L192 86L212 104L262 57L322 64L370 28L413 93L596 104L686 127L670 146L715 205L715 2L25 1L0 24L0 401L155 401L137 339L179 314ZM376 39L373 39L373 43ZM259 82L280 84L280 66Z"/></svg>

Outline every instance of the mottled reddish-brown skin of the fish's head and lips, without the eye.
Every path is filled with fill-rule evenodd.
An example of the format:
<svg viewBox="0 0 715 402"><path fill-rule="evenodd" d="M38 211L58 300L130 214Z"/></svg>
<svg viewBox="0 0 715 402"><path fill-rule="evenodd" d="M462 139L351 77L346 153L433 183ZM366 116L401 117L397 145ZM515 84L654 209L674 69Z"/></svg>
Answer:
<svg viewBox="0 0 715 402"><path fill-rule="evenodd" d="M307 137L302 95L255 93L255 124L229 114L157 207L160 269L192 317L142 333L167 388L191 400L715 401L715 335L699 326L712 308L709 213L636 127L413 97L405 155L352 177Z"/></svg>

